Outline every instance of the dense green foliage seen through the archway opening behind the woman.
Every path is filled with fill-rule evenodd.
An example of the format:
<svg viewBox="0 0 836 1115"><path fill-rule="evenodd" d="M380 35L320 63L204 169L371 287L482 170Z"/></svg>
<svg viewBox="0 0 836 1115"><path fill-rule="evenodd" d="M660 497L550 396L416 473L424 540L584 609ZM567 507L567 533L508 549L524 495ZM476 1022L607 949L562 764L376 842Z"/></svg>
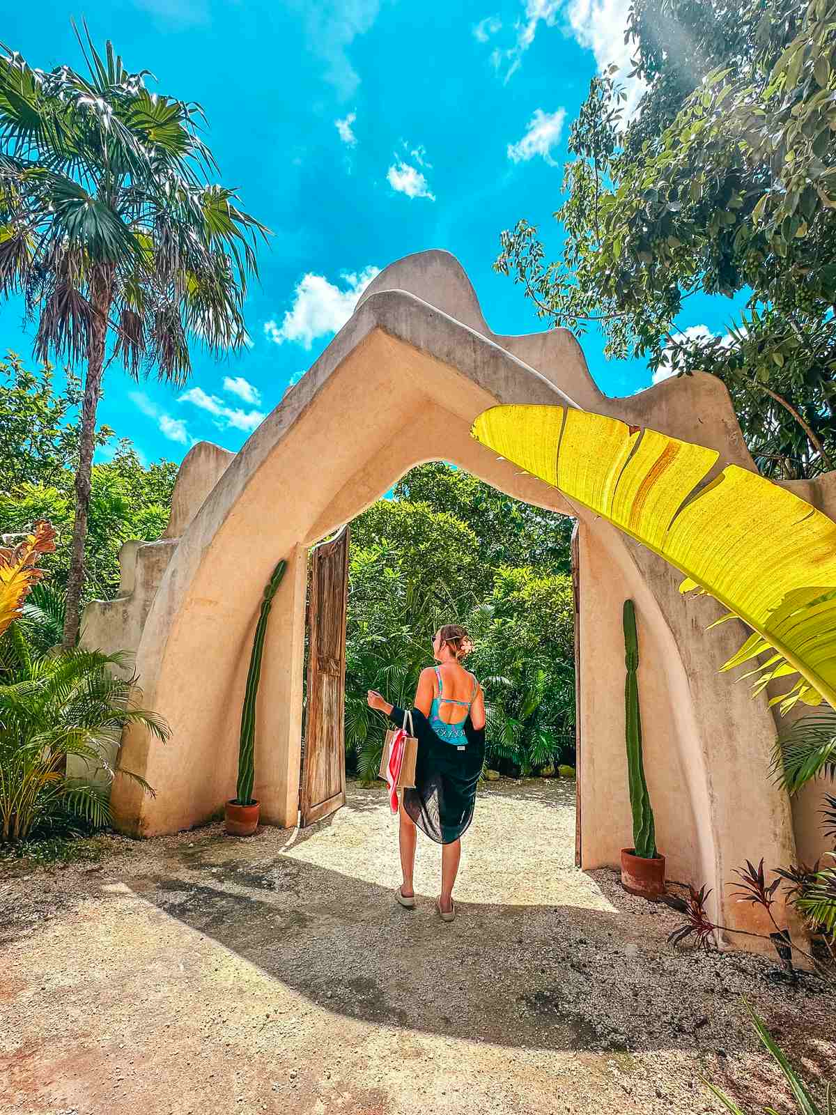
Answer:
<svg viewBox="0 0 836 1115"><path fill-rule="evenodd" d="M346 747L362 779L377 776L378 689L401 707L432 662L443 623L464 623L483 683L487 757L529 772L574 759L571 523L528 507L449 465L411 469L352 525ZM535 565L536 562L536 565Z"/></svg>

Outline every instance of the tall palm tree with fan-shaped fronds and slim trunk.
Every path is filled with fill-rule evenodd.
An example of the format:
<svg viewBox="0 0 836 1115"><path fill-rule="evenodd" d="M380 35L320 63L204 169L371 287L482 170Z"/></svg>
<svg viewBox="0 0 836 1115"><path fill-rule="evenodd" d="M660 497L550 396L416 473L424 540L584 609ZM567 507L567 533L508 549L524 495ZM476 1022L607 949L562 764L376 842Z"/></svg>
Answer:
<svg viewBox="0 0 836 1115"><path fill-rule="evenodd" d="M74 25L75 27L75 25ZM189 343L245 339L242 307L268 230L210 182L200 105L150 93L76 31L87 64L32 69L0 47L0 292L22 293L35 351L85 362L64 643L84 585L96 408L106 357L183 385Z"/></svg>

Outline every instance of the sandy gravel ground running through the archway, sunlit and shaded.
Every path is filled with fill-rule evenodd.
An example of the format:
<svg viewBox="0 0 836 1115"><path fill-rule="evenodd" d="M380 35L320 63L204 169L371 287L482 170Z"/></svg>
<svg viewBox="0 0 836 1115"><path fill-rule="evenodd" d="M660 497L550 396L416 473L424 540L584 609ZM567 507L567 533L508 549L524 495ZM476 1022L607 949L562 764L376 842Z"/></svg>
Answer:
<svg viewBox="0 0 836 1115"><path fill-rule="evenodd" d="M836 999L573 866L574 785L500 780L463 840L458 917L419 834L404 910L382 787L302 832L220 825L0 876L0 1112L461 1115L794 1109L741 996L818 1088Z"/></svg>

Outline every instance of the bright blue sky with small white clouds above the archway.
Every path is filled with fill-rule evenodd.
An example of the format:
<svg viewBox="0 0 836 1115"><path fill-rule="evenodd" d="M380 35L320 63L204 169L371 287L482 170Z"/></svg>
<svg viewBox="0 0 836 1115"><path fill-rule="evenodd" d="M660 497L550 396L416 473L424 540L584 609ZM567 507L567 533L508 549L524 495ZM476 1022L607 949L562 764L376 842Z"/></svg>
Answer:
<svg viewBox="0 0 836 1115"><path fill-rule="evenodd" d="M568 127L590 79L625 62L629 0L87 0L16 4L3 41L40 68L81 66L70 17L110 38L166 95L200 101L221 181L273 231L245 307L252 347L195 352L185 390L111 365L99 421L145 460L195 439L239 449L315 360L378 269L441 248L469 274L497 332L541 329L492 263L503 229L539 225L556 254ZM636 90L631 90L635 96ZM723 332L723 299L691 298L681 329ZM0 349L29 358L22 306L0 308ZM582 345L610 395L650 384L640 361Z"/></svg>

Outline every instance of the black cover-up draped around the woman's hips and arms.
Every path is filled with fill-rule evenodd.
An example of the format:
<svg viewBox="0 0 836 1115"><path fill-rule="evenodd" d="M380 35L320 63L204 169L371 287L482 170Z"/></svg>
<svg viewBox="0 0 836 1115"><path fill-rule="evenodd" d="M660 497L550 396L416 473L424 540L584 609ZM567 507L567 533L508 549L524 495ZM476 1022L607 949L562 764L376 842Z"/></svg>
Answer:
<svg viewBox="0 0 836 1115"><path fill-rule="evenodd" d="M485 729L465 720L467 746L440 739L417 708L411 710L418 739L415 789L402 791L404 809L422 833L437 844L451 844L473 821L476 783L485 763ZM396 727L404 724L404 709L389 714Z"/></svg>

